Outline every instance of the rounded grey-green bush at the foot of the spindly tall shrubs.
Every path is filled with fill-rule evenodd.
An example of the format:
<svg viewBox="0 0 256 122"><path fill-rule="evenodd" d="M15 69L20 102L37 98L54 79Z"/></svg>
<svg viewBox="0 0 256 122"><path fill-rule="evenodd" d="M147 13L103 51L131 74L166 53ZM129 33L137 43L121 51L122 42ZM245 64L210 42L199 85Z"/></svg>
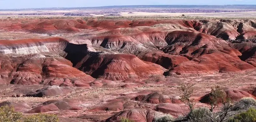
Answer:
<svg viewBox="0 0 256 122"><path fill-rule="evenodd" d="M189 119L192 122L208 122L210 111L207 108L199 108L194 109L193 111L190 111L187 115L187 119Z"/></svg>

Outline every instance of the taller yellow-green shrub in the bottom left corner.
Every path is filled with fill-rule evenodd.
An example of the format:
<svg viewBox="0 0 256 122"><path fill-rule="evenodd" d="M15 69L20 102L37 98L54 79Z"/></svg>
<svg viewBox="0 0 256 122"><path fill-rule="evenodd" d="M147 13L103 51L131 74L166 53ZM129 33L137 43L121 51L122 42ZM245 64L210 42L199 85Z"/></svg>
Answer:
<svg viewBox="0 0 256 122"><path fill-rule="evenodd" d="M8 105L0 107L0 122L19 122L22 118L20 112L15 112L14 107Z"/></svg>

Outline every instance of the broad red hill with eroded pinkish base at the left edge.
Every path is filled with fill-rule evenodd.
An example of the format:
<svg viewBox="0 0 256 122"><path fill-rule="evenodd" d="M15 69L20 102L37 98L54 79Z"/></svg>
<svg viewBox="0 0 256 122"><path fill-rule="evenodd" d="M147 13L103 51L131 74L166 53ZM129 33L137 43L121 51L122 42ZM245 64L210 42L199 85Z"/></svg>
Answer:
<svg viewBox="0 0 256 122"><path fill-rule="evenodd" d="M31 55L30 57L2 55L1 57L2 66L6 67L1 69L1 75L5 77L3 80L13 84L61 85L64 83L68 86L79 86L80 83L76 84L75 82L77 78L83 82L87 81L87 83L94 80L89 75L70 66L72 64L69 61L60 57L45 57L44 55ZM68 81L68 79L70 80Z"/></svg>

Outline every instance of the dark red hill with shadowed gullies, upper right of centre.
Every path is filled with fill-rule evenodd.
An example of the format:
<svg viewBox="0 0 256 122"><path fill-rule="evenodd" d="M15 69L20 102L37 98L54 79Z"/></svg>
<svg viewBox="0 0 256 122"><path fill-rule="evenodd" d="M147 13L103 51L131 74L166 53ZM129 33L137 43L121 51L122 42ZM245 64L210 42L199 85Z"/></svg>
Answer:
<svg viewBox="0 0 256 122"><path fill-rule="evenodd" d="M172 55L191 55L198 57L213 50L239 56L241 53L229 44L214 36L190 31L173 31L166 36L167 46L163 50Z"/></svg>

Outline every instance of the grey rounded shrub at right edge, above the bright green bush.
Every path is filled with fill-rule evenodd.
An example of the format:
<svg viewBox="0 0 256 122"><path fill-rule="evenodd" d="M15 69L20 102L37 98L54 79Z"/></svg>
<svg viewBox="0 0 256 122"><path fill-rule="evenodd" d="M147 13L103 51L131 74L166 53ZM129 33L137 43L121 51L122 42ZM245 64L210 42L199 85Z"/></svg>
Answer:
<svg viewBox="0 0 256 122"><path fill-rule="evenodd" d="M256 100L254 98L242 98L234 105L233 110L248 109L253 106L256 106Z"/></svg>

